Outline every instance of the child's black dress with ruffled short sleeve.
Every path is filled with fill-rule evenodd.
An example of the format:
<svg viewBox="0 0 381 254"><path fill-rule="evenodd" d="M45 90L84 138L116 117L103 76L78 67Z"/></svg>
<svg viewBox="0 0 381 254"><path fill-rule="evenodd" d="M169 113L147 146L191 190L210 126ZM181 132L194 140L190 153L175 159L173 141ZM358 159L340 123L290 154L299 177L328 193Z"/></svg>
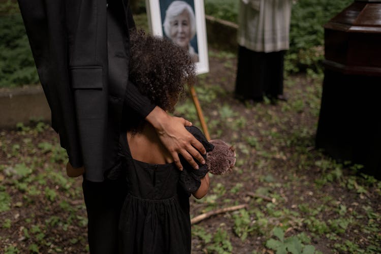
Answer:
<svg viewBox="0 0 381 254"><path fill-rule="evenodd" d="M187 128L207 151L213 149L196 127ZM119 220L122 253L190 253L189 196L208 172L194 170L182 159L183 171L174 163L149 164L134 160L122 135L124 169L128 182Z"/></svg>

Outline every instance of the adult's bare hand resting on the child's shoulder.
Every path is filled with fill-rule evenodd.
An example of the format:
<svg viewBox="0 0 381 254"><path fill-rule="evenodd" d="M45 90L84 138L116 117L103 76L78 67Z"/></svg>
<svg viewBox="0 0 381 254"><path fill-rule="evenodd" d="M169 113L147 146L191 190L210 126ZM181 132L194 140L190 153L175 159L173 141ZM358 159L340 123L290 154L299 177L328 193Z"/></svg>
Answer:
<svg viewBox="0 0 381 254"><path fill-rule="evenodd" d="M158 137L171 153L173 161L180 170L182 165L179 153L195 169L199 166L193 157L201 164L205 164L201 155L206 153L204 146L184 128L192 123L181 117L170 116L157 106L146 116L146 120L153 125Z"/></svg>

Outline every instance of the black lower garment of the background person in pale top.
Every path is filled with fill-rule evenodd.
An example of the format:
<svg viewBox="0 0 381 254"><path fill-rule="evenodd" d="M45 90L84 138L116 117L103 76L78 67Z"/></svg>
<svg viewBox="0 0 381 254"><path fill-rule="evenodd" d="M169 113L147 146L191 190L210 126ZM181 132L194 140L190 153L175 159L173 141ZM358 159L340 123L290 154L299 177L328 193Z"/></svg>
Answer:
<svg viewBox="0 0 381 254"><path fill-rule="evenodd" d="M256 52L239 46L235 94L244 100L283 94L284 52Z"/></svg>

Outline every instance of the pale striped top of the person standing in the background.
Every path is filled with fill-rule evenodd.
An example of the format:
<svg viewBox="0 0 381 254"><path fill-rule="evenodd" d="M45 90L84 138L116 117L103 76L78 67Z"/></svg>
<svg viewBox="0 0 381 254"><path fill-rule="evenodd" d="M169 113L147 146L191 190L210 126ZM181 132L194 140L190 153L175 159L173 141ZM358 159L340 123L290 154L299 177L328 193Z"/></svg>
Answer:
<svg viewBox="0 0 381 254"><path fill-rule="evenodd" d="M292 0L241 0L238 44L257 52L289 49Z"/></svg>

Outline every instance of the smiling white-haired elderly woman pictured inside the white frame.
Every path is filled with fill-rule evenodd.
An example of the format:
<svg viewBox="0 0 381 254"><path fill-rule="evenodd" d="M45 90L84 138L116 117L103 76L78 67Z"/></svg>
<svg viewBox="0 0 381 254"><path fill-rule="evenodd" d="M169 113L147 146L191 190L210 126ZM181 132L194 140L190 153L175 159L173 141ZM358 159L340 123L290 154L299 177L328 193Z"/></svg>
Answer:
<svg viewBox="0 0 381 254"><path fill-rule="evenodd" d="M163 30L169 39L189 52L193 62L199 61L197 43L192 46L196 35L196 18L193 8L184 1L173 1L167 8ZM196 41L196 40L194 40Z"/></svg>

